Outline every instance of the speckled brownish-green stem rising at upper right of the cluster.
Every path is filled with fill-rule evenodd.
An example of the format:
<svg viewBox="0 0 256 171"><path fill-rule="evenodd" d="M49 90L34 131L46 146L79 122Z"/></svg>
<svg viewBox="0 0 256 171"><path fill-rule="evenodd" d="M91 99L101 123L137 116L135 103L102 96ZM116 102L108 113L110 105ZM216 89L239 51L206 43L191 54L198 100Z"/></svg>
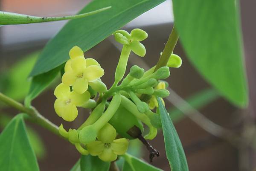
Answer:
<svg viewBox="0 0 256 171"><path fill-rule="evenodd" d="M173 26L172 28L172 32L168 38L168 41L163 49L163 53L159 58L159 61L157 62L157 66L154 69L154 72L159 69L160 67L164 67L166 66L170 56L172 55L173 49L175 48L177 41L179 38L179 34L175 28L175 26Z"/></svg>

